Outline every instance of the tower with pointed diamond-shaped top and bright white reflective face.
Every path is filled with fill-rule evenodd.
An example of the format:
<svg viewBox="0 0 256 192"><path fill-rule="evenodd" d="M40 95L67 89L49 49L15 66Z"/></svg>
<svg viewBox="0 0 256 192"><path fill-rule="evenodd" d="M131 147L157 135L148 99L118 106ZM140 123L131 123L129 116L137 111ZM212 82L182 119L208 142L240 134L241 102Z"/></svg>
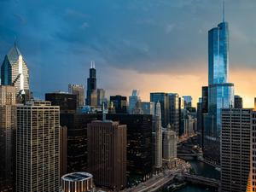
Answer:
<svg viewBox="0 0 256 192"><path fill-rule="evenodd" d="M20 50L17 45L5 55L1 67L2 85L14 85L16 95L25 95L29 90L29 72Z"/></svg>

